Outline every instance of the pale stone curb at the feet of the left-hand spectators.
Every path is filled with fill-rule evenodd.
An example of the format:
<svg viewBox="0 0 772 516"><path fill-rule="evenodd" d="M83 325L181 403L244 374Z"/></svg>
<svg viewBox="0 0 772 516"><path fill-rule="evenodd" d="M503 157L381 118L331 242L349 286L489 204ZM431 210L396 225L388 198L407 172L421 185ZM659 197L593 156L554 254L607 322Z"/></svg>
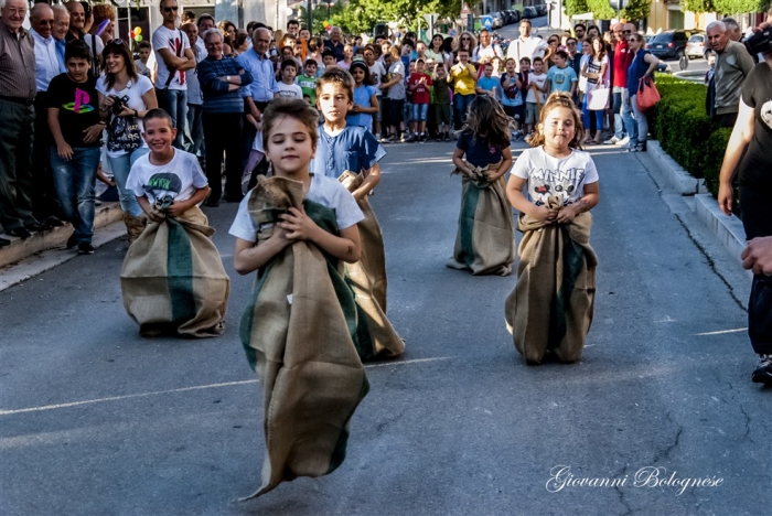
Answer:
<svg viewBox="0 0 772 516"><path fill-rule="evenodd" d="M97 206L94 216L94 236L96 237L98 229L119 222L121 218L122 212L119 203L104 203L101 206ZM0 235L11 240L10 246L0 248L0 267L15 264L46 249L64 247L72 234L73 226L65 224L47 232L33 233L30 238L24 240L9 235Z"/></svg>

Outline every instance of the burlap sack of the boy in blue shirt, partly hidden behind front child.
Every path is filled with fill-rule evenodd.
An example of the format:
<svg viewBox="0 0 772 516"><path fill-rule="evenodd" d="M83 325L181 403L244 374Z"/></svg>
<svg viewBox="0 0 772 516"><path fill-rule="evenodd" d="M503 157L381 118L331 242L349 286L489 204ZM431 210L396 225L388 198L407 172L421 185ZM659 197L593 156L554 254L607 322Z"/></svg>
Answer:
<svg viewBox="0 0 772 516"><path fill-rule="evenodd" d="M350 192L354 192L364 182L364 176L346 171L339 180ZM360 229L362 258L356 264L346 264L346 281L354 290L360 314L357 350L363 361L393 358L405 353L405 342L399 338L386 316L384 235L367 197L357 204L365 215L356 225Z"/></svg>

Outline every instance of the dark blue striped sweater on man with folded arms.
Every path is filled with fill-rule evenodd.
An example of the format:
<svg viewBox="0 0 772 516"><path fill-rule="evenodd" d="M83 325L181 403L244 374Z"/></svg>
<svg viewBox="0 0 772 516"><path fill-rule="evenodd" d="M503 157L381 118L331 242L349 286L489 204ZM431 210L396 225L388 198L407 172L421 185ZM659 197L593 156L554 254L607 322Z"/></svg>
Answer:
<svg viewBox="0 0 772 516"><path fill-rule="evenodd" d="M206 57L199 63L196 68L199 75L199 84L201 92L204 94L204 112L244 112L244 94L248 86L253 83L251 74L233 57L215 60L212 56ZM239 75L242 77L242 87L228 92L228 83L221 80L219 77L226 75Z"/></svg>

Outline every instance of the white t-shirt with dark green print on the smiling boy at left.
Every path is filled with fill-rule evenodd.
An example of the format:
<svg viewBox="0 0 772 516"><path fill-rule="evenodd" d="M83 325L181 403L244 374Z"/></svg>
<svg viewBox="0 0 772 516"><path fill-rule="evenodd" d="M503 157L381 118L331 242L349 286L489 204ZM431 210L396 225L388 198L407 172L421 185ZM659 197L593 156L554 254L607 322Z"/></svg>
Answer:
<svg viewBox="0 0 772 516"><path fill-rule="evenodd" d="M131 165L126 180L127 190L138 197L147 195L150 204L167 196L173 201L187 201L196 190L206 185L206 175L195 154L179 149L174 149L174 157L164 165L150 163L150 154L144 154Z"/></svg>

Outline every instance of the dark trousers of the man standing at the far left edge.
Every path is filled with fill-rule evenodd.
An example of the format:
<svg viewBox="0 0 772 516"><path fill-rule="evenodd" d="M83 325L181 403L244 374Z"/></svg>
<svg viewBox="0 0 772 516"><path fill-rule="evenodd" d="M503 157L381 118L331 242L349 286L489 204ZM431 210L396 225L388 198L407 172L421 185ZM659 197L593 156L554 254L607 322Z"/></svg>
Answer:
<svg viewBox="0 0 772 516"><path fill-rule="evenodd" d="M0 99L0 224L8 232L37 222L30 197L35 110Z"/></svg>

